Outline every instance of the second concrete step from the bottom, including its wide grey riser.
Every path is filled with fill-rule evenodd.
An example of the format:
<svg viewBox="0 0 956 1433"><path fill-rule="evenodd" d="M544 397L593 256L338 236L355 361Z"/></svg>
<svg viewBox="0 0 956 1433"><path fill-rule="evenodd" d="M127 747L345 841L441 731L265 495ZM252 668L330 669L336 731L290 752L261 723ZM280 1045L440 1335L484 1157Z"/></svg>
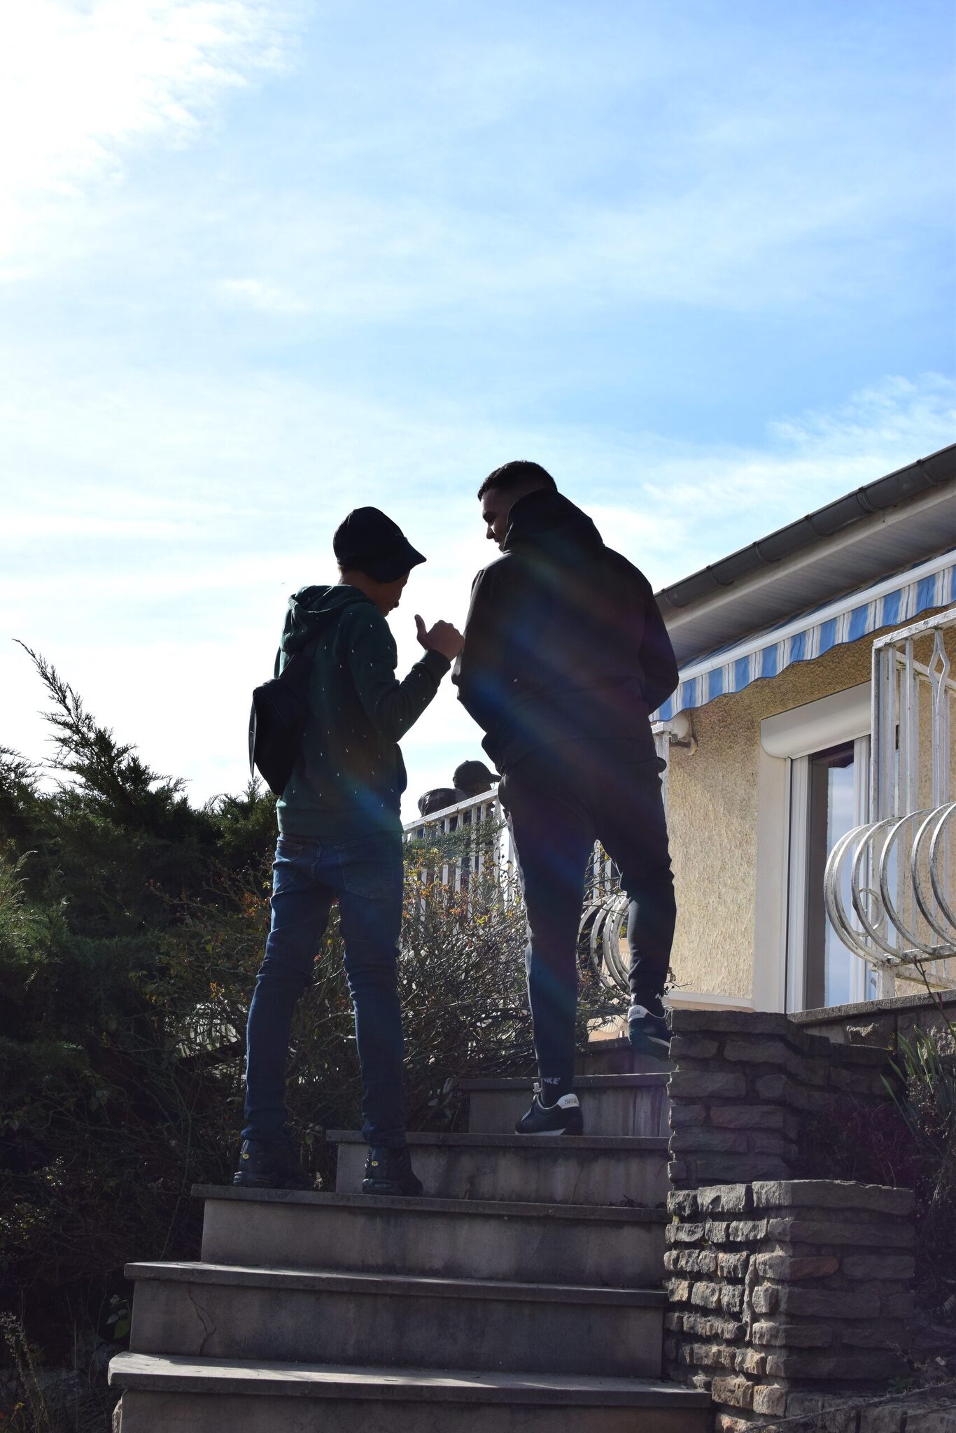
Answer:
<svg viewBox="0 0 956 1433"><path fill-rule="evenodd" d="M128 1264L130 1351L659 1377L656 1290Z"/></svg>

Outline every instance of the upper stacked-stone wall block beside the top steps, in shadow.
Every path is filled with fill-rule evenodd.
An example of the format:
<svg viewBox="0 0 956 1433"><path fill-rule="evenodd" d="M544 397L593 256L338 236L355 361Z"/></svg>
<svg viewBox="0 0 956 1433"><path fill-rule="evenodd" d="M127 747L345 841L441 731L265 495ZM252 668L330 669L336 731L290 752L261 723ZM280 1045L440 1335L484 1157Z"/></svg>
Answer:
<svg viewBox="0 0 956 1433"><path fill-rule="evenodd" d="M847 1095L887 1099L889 1050L834 1045L785 1015L675 1010L671 1185L794 1179L800 1122Z"/></svg>

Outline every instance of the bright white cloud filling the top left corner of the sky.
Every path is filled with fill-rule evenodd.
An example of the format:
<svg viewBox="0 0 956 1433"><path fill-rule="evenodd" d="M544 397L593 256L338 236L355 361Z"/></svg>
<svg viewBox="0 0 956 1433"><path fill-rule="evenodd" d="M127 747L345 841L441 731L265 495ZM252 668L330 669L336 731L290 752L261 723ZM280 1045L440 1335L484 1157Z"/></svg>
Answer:
<svg viewBox="0 0 956 1433"><path fill-rule="evenodd" d="M297 0L6 6L0 259L76 221L76 201L115 186L136 145L188 143L229 90L279 69L297 9Z"/></svg>

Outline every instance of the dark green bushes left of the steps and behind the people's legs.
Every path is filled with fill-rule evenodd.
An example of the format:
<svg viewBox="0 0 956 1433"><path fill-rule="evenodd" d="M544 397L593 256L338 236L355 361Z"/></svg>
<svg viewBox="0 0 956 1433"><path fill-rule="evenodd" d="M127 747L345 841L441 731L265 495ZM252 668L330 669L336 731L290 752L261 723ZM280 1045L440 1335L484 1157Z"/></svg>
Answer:
<svg viewBox="0 0 956 1433"><path fill-rule="evenodd" d="M130 1258L196 1257L196 1182L231 1176L242 1039L269 919L274 801L196 810L97 725L40 658L52 790L0 751L0 1274L44 1361L77 1321L113 1337ZM487 843L466 888L433 871ZM456 1079L530 1068L520 903L493 831L407 851L400 982L413 1128L451 1128ZM585 979L580 1037L612 1000ZM334 1178L328 1128L360 1122L335 914L297 1009L288 1102L307 1168ZM110 1298L113 1304L110 1305ZM112 1313L110 1313L112 1310Z"/></svg>

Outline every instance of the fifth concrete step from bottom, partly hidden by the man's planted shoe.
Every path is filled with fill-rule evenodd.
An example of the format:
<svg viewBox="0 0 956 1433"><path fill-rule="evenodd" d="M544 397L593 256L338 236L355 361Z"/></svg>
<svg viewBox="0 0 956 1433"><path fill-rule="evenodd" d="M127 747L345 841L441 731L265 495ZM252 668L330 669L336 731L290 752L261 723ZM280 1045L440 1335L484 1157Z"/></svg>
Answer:
<svg viewBox="0 0 956 1433"><path fill-rule="evenodd" d="M582 1075L575 1079L586 1135L668 1135L666 1070L655 1075ZM513 1134L532 1099L533 1079L463 1079L469 1132ZM552 1136L553 1138L553 1136Z"/></svg>

